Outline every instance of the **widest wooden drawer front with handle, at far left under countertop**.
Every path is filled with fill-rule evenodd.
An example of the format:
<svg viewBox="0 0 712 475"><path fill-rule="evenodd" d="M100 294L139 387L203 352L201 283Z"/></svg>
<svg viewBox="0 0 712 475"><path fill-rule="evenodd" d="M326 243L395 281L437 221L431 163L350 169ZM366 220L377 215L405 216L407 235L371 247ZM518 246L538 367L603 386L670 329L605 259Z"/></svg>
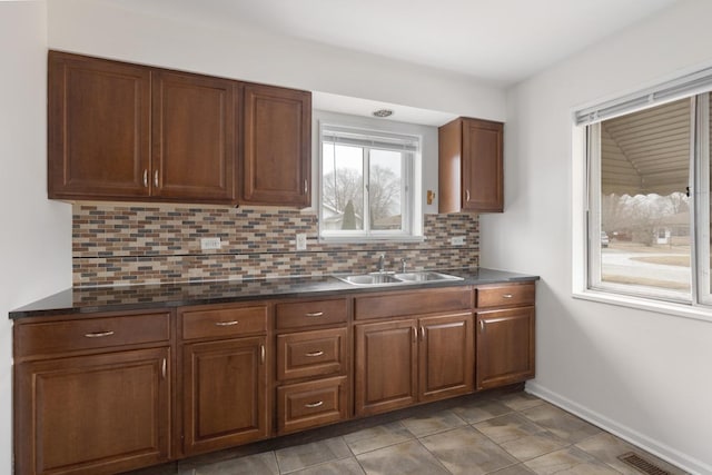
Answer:
<svg viewBox="0 0 712 475"><path fill-rule="evenodd" d="M170 339L170 313L20 324L14 357L139 345Z"/></svg>

